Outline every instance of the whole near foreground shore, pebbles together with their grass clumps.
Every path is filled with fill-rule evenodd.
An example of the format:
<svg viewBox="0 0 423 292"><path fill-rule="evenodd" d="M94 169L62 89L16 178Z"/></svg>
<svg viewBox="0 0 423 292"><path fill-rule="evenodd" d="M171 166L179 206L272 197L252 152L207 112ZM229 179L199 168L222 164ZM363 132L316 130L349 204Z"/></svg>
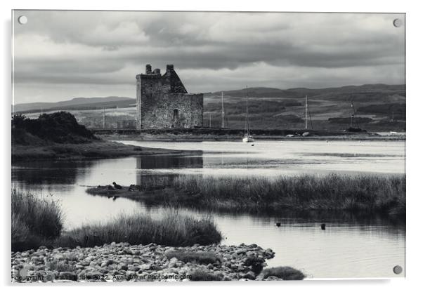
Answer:
<svg viewBox="0 0 423 292"><path fill-rule="evenodd" d="M177 212L160 220L149 215L122 215L112 223L63 232L61 212L57 201L12 192L13 282L305 277L292 267L263 270L266 260L275 256L270 248L265 250L256 244L221 245L222 234L210 217L199 220Z"/></svg>

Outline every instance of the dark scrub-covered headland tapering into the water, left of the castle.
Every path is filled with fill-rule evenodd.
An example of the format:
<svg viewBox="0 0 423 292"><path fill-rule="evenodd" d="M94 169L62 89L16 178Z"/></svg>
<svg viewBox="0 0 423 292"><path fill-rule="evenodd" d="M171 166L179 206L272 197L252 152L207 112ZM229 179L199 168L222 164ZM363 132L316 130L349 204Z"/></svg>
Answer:
<svg viewBox="0 0 423 292"><path fill-rule="evenodd" d="M68 112L12 117L12 161L25 159L105 159L131 155L181 153L135 147L96 137Z"/></svg>

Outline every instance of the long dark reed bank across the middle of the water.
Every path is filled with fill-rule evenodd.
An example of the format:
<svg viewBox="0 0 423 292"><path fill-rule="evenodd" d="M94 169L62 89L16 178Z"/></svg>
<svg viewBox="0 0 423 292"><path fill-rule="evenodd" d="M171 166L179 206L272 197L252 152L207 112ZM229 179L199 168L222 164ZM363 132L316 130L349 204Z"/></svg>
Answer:
<svg viewBox="0 0 423 292"><path fill-rule="evenodd" d="M91 194L108 195L105 188ZM405 215L405 175L299 175L280 178L181 176L174 187L128 192L120 197L150 204L180 205L228 211L373 211Z"/></svg>

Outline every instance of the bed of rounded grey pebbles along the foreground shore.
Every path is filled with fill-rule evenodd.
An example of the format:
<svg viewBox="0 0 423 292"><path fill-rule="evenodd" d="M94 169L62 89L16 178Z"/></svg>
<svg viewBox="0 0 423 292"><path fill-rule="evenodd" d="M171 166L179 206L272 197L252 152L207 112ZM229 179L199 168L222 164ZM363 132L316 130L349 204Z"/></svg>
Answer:
<svg viewBox="0 0 423 292"><path fill-rule="evenodd" d="M193 258L178 260L171 256L178 253ZM195 259L195 255L202 255L203 260ZM211 257L204 260L204 255ZM260 280L266 259L274 255L270 248L265 250L256 244L174 248L112 243L93 248L41 247L37 251L12 253L12 281Z"/></svg>

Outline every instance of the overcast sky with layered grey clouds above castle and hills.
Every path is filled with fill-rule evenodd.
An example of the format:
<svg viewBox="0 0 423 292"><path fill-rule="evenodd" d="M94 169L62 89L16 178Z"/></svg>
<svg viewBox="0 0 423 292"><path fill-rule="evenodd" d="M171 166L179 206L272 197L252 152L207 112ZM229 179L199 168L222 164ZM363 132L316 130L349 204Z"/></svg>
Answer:
<svg viewBox="0 0 423 292"><path fill-rule="evenodd" d="M26 15L26 25L17 18ZM17 11L15 103L135 98L135 75L174 64L193 93L405 83L395 14Z"/></svg>

